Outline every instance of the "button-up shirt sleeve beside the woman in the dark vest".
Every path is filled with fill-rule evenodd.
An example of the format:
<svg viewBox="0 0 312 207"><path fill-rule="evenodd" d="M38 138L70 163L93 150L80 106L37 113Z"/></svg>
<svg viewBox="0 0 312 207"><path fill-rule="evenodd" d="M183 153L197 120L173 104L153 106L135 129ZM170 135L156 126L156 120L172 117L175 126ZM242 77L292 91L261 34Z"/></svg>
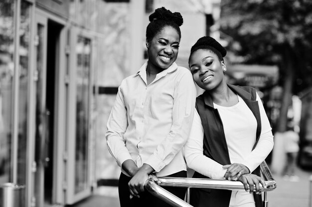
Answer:
<svg viewBox="0 0 312 207"><path fill-rule="evenodd" d="M145 162L156 172L166 166L185 144L193 120L195 100L195 84L191 73L187 71L174 90L170 132Z"/></svg>

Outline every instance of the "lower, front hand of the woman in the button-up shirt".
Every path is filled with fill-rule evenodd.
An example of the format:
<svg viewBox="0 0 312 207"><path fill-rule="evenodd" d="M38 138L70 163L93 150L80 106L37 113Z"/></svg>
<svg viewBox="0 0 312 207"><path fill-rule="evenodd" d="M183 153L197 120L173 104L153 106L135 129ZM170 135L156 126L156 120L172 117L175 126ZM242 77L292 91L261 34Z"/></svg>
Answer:
<svg viewBox="0 0 312 207"><path fill-rule="evenodd" d="M150 165L143 164L138 172L132 177L128 183L130 199L133 197L140 198L139 194L144 192L144 185L149 179L149 174L151 174L153 171L154 169Z"/></svg>

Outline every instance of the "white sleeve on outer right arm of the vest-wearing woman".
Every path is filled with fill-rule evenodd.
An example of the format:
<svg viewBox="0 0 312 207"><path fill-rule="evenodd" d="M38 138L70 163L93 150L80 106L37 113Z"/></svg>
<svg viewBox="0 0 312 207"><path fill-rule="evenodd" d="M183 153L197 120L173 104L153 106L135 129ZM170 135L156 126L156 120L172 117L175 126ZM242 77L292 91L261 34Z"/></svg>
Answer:
<svg viewBox="0 0 312 207"><path fill-rule="evenodd" d="M257 146L242 162L242 164L249 168L250 172L253 172L265 160L272 151L274 145L272 128L258 94L256 100L258 101L260 109L261 134Z"/></svg>

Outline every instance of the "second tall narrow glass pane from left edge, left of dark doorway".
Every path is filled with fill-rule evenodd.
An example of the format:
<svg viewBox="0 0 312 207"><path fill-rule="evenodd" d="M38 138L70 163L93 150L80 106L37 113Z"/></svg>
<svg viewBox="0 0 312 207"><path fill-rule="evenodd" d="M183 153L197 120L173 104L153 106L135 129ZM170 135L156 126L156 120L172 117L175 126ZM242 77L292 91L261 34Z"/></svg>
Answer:
<svg viewBox="0 0 312 207"><path fill-rule="evenodd" d="M28 107L28 68L30 40L30 4L21 1L19 27L19 94L18 94L18 144L17 144L17 183L26 181L26 143Z"/></svg>

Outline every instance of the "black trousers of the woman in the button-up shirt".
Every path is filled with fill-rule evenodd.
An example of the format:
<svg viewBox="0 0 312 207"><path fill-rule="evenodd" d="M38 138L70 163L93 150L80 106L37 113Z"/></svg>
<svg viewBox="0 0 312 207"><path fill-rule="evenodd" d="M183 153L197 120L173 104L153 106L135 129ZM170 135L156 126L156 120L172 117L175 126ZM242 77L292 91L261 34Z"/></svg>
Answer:
<svg viewBox="0 0 312 207"><path fill-rule="evenodd" d="M166 177L182 177L186 178L186 171L180 171ZM131 177L126 176L124 173L120 174L118 192L120 207L171 207L160 199L156 198L149 192L145 191L140 194L140 198L134 197L130 199L130 192L128 183ZM179 187L162 187L180 199L184 200L186 188Z"/></svg>

